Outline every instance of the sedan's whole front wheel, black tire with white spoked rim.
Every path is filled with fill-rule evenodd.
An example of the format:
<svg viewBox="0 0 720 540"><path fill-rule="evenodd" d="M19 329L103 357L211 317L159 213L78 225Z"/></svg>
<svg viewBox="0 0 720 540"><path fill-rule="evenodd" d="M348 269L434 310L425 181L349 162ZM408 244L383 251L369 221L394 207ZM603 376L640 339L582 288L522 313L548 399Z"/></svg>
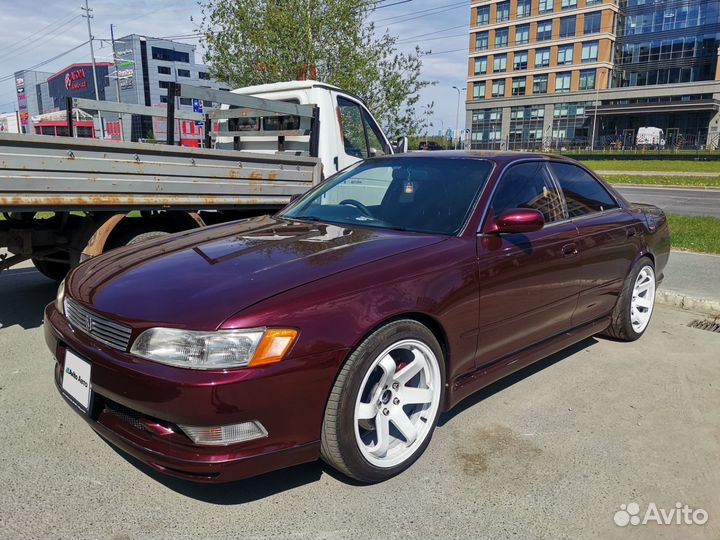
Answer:
<svg viewBox="0 0 720 540"><path fill-rule="evenodd" d="M391 478L425 451L440 415L444 355L417 321L393 321L350 354L325 409L321 455L360 482Z"/></svg>

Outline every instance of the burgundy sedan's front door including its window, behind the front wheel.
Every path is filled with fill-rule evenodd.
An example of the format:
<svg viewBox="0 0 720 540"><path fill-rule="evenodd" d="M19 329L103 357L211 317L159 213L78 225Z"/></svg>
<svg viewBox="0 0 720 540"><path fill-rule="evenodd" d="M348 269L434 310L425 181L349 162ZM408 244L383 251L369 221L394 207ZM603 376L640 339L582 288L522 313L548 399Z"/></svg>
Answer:
<svg viewBox="0 0 720 540"><path fill-rule="evenodd" d="M513 208L540 211L545 225L527 234L477 237L478 365L568 330L577 303L578 232L543 161L504 171L485 222Z"/></svg>

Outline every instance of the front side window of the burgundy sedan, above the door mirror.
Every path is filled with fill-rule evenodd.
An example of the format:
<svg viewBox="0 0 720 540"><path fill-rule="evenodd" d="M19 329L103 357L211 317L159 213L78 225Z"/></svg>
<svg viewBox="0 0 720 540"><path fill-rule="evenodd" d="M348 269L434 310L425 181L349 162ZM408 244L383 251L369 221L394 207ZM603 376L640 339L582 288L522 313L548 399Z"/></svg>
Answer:
<svg viewBox="0 0 720 540"><path fill-rule="evenodd" d="M542 213L545 223L565 219L562 197L540 161L505 171L490 206L495 216L513 208L532 208Z"/></svg>

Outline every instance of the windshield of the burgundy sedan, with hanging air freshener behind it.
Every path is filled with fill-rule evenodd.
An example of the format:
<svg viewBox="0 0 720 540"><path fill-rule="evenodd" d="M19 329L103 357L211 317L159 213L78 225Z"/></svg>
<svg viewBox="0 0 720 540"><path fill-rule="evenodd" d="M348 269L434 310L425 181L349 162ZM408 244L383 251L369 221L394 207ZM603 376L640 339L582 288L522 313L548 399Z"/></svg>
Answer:
<svg viewBox="0 0 720 540"><path fill-rule="evenodd" d="M328 179L281 216L453 235L491 170L481 159L372 159Z"/></svg>

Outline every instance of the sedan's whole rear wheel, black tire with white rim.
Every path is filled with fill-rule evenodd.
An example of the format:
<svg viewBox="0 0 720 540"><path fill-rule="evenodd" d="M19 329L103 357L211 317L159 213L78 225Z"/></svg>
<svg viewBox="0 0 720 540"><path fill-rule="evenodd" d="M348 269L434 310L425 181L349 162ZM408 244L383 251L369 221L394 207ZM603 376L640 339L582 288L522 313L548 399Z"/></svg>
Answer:
<svg viewBox="0 0 720 540"><path fill-rule="evenodd" d="M655 266L640 258L628 274L612 312L610 326L603 334L621 341L635 341L650 324L655 308Z"/></svg>

